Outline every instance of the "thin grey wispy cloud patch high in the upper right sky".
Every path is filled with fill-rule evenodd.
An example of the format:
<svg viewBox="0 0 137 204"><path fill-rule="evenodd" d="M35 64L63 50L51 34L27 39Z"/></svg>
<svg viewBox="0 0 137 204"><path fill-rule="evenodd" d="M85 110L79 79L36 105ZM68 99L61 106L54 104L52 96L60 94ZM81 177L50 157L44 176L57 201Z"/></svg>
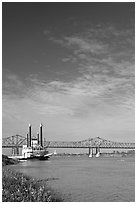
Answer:
<svg viewBox="0 0 137 204"><path fill-rule="evenodd" d="M51 41L72 51L72 62L82 67L105 65L115 71L115 65L124 62L134 65L134 29L118 29L114 26L89 27L86 31ZM100 67L99 67L100 68ZM101 69L101 68L100 68Z"/></svg>

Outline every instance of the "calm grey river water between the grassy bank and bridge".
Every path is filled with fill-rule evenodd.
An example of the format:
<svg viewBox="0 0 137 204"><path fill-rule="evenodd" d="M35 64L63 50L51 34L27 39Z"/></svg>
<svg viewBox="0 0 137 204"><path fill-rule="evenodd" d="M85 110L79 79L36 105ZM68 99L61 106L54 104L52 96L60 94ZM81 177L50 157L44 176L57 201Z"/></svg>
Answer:
<svg viewBox="0 0 137 204"><path fill-rule="evenodd" d="M66 202L134 202L133 157L51 157L12 166L29 176L47 179ZM53 179L54 178L54 179Z"/></svg>

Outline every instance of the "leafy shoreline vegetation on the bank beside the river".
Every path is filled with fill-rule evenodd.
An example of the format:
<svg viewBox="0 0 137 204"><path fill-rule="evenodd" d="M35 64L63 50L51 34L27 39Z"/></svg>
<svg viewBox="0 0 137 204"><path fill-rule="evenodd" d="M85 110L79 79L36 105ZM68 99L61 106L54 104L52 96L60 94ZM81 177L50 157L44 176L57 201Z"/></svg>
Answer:
<svg viewBox="0 0 137 204"><path fill-rule="evenodd" d="M2 202L62 202L63 198L47 185L9 168L18 161L2 155ZM53 178L54 179L54 178Z"/></svg>

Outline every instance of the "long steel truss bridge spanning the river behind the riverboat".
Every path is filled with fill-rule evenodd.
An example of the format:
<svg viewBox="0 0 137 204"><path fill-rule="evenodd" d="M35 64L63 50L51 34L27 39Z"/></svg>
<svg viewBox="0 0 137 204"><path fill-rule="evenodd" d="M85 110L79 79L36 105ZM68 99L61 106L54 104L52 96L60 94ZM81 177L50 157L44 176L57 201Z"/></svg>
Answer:
<svg viewBox="0 0 137 204"><path fill-rule="evenodd" d="M26 143L26 137L13 135L2 139L2 148L12 148L14 152L16 150L16 154L19 154L19 148L22 148L22 146ZM89 138L81 141L46 141L44 138L43 143L45 148L89 148L89 154L94 148L96 149L96 153L101 148L135 149L135 143L113 142L100 137Z"/></svg>

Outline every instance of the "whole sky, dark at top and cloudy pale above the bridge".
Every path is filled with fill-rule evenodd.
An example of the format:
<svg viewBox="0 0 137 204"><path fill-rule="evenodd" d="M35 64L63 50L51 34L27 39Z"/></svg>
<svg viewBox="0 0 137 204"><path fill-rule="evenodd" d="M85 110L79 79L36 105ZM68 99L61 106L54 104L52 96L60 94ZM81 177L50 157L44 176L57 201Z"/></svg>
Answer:
<svg viewBox="0 0 137 204"><path fill-rule="evenodd" d="M134 142L134 3L2 3L2 135Z"/></svg>

